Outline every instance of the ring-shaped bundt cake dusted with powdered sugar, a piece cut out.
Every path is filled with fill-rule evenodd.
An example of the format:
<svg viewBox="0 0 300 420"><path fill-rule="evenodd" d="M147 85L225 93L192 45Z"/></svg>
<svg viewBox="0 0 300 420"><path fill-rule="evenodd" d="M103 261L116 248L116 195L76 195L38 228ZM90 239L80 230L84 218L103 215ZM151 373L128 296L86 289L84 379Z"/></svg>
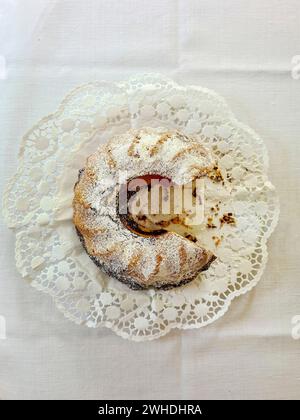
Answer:
<svg viewBox="0 0 300 420"><path fill-rule="evenodd" d="M187 184L201 202L195 182L213 166L199 140L163 128L129 130L101 145L74 187L73 221L90 258L133 289L168 289L193 280L215 256L192 235L188 211L178 213L173 205L163 213L161 204ZM159 211L152 214L155 193Z"/></svg>

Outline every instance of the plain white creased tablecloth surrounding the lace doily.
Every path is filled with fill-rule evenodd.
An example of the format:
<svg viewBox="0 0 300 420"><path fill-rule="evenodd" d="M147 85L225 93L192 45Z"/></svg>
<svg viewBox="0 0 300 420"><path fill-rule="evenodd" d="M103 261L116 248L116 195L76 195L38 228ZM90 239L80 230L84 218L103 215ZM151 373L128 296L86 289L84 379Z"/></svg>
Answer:
<svg viewBox="0 0 300 420"><path fill-rule="evenodd" d="M1 223L0 398L300 397L299 39L298 0L0 0L1 188L71 88L155 71L216 90L265 139L282 206L259 285L211 326L148 343L64 319L18 275Z"/></svg>

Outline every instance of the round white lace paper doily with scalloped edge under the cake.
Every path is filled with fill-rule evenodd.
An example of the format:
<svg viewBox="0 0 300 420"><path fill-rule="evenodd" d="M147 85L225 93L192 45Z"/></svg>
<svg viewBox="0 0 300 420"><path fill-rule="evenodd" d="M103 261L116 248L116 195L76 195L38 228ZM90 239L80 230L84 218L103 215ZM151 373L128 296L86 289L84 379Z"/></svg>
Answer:
<svg viewBox="0 0 300 420"><path fill-rule="evenodd" d="M208 223L199 232L217 260L190 284L169 291L132 291L103 274L84 252L71 220L73 185L86 156L113 134L142 126L197 135L217 156L226 180L225 187L207 191ZM106 326L137 341L175 327L202 327L262 275L266 241L279 215L267 169L262 140L212 91L160 75L81 86L23 139L3 205L16 232L17 268L78 324ZM222 223L228 213L234 224Z"/></svg>

